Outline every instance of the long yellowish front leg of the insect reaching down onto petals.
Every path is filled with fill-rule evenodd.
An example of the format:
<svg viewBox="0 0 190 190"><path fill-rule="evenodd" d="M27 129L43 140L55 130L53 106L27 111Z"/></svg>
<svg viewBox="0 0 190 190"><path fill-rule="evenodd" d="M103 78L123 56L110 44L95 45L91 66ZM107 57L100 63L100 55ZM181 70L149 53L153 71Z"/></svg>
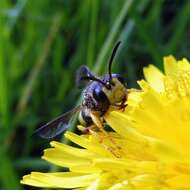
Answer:
<svg viewBox="0 0 190 190"><path fill-rule="evenodd" d="M121 155L120 153L118 152L118 150L120 151L120 147L116 144L116 142L114 141L114 139L112 138L112 136L109 135L109 133L107 131L104 130L104 126L102 125L102 122L101 122L101 119L100 117L96 114L96 113L93 113L91 112L90 113L90 116L92 118L92 121L93 123L96 125L96 127L102 132L102 134L107 137L110 142L114 145L114 147L107 147L106 146L106 149L108 149L115 157L117 158L120 158ZM103 139L101 138L101 141L100 143L103 142ZM116 152L117 151L117 152Z"/></svg>

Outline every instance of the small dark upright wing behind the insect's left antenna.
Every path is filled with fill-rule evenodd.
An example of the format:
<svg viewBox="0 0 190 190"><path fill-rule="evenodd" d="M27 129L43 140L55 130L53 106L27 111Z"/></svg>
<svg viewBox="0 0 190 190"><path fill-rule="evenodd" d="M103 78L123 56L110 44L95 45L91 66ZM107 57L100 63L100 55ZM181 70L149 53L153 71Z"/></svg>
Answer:
<svg viewBox="0 0 190 190"><path fill-rule="evenodd" d="M84 86L86 86L86 84L89 82L89 80L84 80L85 77L92 77L94 76L89 68L85 65L82 65L77 73L76 73L76 85L78 88L83 88Z"/></svg>

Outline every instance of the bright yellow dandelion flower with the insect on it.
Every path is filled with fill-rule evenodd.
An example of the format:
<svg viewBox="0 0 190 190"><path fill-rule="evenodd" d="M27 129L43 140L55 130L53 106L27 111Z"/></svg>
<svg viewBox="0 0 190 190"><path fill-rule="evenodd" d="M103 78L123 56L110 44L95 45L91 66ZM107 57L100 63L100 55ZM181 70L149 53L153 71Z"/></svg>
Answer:
<svg viewBox="0 0 190 190"><path fill-rule="evenodd" d="M141 92L131 92L124 112L109 111L114 132L65 137L79 145L51 142L43 159L68 172L32 172L21 183L87 190L190 189L190 64L164 58L162 73L144 69Z"/></svg>

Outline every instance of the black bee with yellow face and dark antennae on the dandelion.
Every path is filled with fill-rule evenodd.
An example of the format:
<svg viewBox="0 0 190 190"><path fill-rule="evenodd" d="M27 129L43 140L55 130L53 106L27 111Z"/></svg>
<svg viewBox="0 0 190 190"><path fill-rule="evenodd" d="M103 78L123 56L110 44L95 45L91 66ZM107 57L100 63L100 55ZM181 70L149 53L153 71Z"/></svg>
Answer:
<svg viewBox="0 0 190 190"><path fill-rule="evenodd" d="M77 71L77 85L85 86L81 105L38 128L35 133L42 138L53 138L68 129L72 115L77 112L79 112L78 118L82 125L87 128L95 125L101 130L103 117L110 106L118 109L126 107L128 90L125 80L120 74L113 74L111 71L113 59L120 43L119 41L112 51L107 74L97 77L85 65L82 65Z"/></svg>

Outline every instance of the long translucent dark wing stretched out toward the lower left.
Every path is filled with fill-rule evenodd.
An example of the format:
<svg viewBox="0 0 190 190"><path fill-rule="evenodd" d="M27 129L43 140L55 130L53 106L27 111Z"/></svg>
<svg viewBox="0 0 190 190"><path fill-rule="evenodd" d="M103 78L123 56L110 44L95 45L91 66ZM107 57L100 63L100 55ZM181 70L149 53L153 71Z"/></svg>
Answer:
<svg viewBox="0 0 190 190"><path fill-rule="evenodd" d="M64 131L66 131L69 127L69 120L71 119L72 115L75 114L80 110L80 106L75 107L74 109L64 113L63 115L57 117L56 119L48 122L47 124L43 125L42 127L38 128L34 135L37 134L42 138L51 139Z"/></svg>

